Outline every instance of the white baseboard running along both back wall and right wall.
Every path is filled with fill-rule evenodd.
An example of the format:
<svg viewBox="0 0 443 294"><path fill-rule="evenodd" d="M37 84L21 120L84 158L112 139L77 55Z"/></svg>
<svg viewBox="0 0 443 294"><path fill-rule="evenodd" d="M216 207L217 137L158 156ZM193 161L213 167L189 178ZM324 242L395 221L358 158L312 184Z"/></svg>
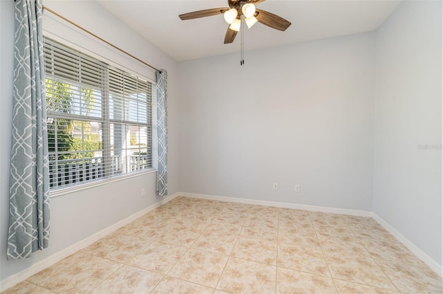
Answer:
<svg viewBox="0 0 443 294"><path fill-rule="evenodd" d="M334 214L345 214L345 215L353 215L355 217L372 217L379 223L383 228L385 228L390 234L392 234L396 239L398 239L401 244L406 246L413 252L415 256L417 256L420 260L422 260L431 270L433 270L440 277L443 276L443 266L438 264L437 261L426 255L421 249L415 246L409 239L401 235L400 232L392 228L386 221L381 219L374 212L362 211L362 210L345 210L341 208L326 208L322 206L312 206L312 205L301 205L301 204L293 204L293 203L282 203L282 202L272 202L272 201L261 201L261 200L253 200L253 199L242 199L242 198L234 198L234 197L226 197L226 196L214 196L214 195L205 195L205 194L193 194L193 193L179 193L180 196L197 198L197 199L208 199L208 200L216 200L216 201L225 201L225 202L233 202L233 203L244 203L251 205L264 205L264 206L273 206L276 208L292 208L298 210L308 210L308 211L316 211L316 212L326 212L326 213L334 213Z"/></svg>

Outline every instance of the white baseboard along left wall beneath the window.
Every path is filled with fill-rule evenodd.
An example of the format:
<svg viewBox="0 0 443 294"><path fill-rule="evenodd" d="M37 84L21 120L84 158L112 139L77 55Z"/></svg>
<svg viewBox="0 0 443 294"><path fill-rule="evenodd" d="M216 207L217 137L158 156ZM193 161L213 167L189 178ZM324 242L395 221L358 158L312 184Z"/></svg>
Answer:
<svg viewBox="0 0 443 294"><path fill-rule="evenodd" d="M163 198L161 201L156 202L147 208L136 212L135 214L132 214L131 216L127 217L126 219L123 219L121 221L118 221L118 223L114 223L114 225L109 226L103 230L100 230L100 232L96 232L96 234L91 235L90 237L87 237L86 239L83 239L82 241L79 241L76 244L73 244L67 248L64 248L63 250L46 257L45 259L38 261L36 264L33 264L32 266L26 268L25 270L21 270L21 272L16 273L15 275L11 275L10 277L7 277L6 279L3 279L3 281L0 282L0 291L4 291L7 288L10 288L14 286L15 284L24 281L25 279L28 279L28 277L35 275L40 270L43 270L44 268L47 268L48 266L52 266L57 261L60 261L64 259L65 257L68 257L69 255L72 255L73 253L77 252L78 250L82 250L83 248L93 244L95 241L98 241L98 239L101 239L102 237L105 237L111 232L115 232L119 228L122 228L123 226L126 226L128 223L131 223L132 221L135 221L139 217L143 217L144 214L147 214L148 212L151 212L152 210L159 208L161 205L168 203L172 199L179 196L180 193L172 194L170 196L167 196Z"/></svg>

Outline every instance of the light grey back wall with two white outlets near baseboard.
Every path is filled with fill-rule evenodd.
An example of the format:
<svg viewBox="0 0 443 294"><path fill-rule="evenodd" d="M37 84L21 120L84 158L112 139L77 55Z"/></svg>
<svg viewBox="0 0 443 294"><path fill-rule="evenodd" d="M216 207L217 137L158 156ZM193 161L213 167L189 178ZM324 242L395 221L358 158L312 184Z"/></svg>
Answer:
<svg viewBox="0 0 443 294"><path fill-rule="evenodd" d="M180 62L181 192L370 211L374 61L365 33Z"/></svg>

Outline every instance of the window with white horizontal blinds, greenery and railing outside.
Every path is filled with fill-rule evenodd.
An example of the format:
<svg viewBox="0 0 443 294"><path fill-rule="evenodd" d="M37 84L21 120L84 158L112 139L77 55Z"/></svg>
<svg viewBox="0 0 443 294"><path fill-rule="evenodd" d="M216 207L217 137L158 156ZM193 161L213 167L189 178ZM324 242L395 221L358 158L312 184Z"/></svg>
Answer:
<svg viewBox="0 0 443 294"><path fill-rule="evenodd" d="M44 38L51 189L152 168L152 84Z"/></svg>

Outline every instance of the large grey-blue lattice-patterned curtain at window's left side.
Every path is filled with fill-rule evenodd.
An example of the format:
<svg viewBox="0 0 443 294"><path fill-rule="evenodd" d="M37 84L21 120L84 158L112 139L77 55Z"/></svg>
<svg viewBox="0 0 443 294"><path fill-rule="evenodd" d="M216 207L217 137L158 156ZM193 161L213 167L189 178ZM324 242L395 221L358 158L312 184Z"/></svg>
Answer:
<svg viewBox="0 0 443 294"><path fill-rule="evenodd" d="M49 176L42 1L15 2L8 259L48 247Z"/></svg>

